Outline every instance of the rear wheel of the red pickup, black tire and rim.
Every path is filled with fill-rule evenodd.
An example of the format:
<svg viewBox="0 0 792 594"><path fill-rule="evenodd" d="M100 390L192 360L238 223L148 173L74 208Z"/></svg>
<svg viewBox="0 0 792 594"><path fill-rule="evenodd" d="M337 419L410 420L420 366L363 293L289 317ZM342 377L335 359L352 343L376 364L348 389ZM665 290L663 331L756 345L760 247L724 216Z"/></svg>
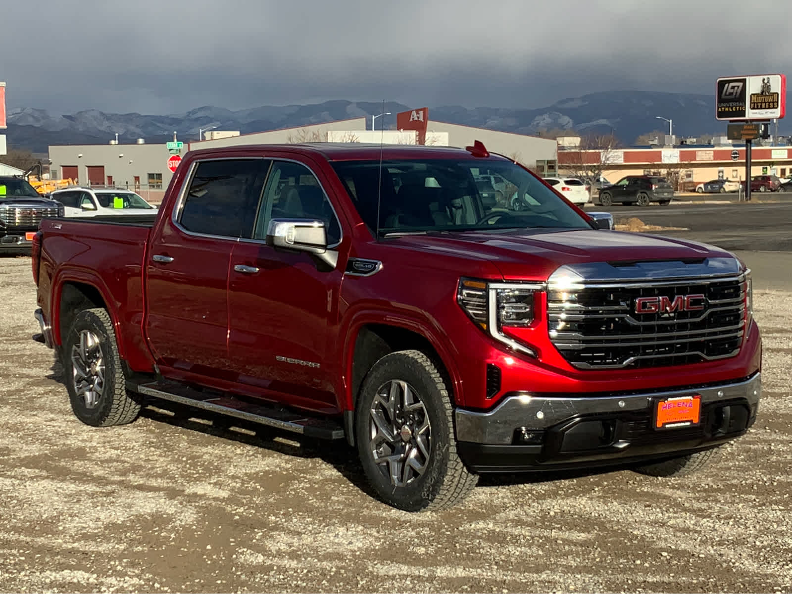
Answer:
<svg viewBox="0 0 792 594"><path fill-rule="evenodd" d="M140 404L127 391L116 334L106 310L82 310L75 316L63 344L63 367L71 409L80 421L110 427L126 425L138 417ZM89 386L95 389L89 390Z"/></svg>

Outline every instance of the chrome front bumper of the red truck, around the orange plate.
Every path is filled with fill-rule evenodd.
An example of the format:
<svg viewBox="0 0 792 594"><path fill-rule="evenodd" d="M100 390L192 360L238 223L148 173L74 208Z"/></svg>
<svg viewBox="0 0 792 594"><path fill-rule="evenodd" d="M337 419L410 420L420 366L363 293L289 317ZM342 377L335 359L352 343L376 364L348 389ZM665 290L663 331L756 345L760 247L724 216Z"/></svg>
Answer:
<svg viewBox="0 0 792 594"><path fill-rule="evenodd" d="M652 403L657 398L673 398L689 394L701 394L702 405L709 402L725 402L744 399L756 415L762 395L760 374L739 383L718 386L631 394L630 396L598 397L544 397L520 394L505 398L494 409L479 413L456 409L456 439L474 444L512 444L515 432L520 428L541 431L583 415L601 413L652 412Z"/></svg>

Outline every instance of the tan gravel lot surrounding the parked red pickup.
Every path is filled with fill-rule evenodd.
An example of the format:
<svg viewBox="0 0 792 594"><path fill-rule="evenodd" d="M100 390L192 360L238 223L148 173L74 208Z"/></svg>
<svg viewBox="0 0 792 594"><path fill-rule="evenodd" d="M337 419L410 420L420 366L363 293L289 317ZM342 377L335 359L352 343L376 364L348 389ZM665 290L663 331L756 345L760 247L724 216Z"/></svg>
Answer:
<svg viewBox="0 0 792 594"><path fill-rule="evenodd" d="M789 274L789 272L786 272ZM0 259L0 591L790 592L792 296L759 290L760 418L694 478L488 478L375 501L345 446L72 415L27 257Z"/></svg>

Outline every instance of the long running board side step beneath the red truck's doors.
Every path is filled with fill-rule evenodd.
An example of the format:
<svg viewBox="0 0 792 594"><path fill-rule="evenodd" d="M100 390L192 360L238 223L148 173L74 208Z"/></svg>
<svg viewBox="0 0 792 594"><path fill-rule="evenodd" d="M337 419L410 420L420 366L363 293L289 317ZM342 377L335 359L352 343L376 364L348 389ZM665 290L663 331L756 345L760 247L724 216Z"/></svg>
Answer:
<svg viewBox="0 0 792 594"><path fill-rule="evenodd" d="M128 382L127 387L133 392L162 398L170 402L178 402L196 409L204 409L212 413L227 415L244 419L259 425L268 425L302 433L307 437L322 440L343 440L344 428L340 423L330 418L310 417L304 413L297 413L276 406L267 406L260 403L246 402L215 390L196 390L182 383L161 380L152 383L137 384Z"/></svg>

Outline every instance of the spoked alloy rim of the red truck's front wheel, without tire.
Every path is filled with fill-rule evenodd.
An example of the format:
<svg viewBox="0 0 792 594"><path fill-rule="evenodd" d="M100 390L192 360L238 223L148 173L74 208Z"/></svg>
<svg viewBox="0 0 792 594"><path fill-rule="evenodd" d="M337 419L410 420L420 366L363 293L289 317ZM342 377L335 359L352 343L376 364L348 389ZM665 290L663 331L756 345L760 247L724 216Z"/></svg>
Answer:
<svg viewBox="0 0 792 594"><path fill-rule="evenodd" d="M394 379L379 387L369 413L371 454L390 484L403 487L424 474L432 452L432 428L421 397Z"/></svg>

